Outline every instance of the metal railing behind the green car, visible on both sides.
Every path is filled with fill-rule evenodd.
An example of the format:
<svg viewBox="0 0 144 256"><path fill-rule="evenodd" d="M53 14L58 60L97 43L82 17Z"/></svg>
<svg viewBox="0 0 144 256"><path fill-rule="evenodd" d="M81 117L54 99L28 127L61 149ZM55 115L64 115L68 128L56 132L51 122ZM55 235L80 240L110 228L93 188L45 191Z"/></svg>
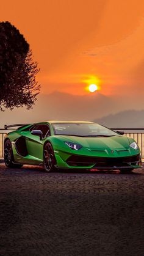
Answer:
<svg viewBox="0 0 144 256"><path fill-rule="evenodd" d="M144 161L144 128L112 128L115 131L124 131L125 136L135 139L140 147L142 159ZM0 158L4 157L4 136L10 130L0 130Z"/></svg>

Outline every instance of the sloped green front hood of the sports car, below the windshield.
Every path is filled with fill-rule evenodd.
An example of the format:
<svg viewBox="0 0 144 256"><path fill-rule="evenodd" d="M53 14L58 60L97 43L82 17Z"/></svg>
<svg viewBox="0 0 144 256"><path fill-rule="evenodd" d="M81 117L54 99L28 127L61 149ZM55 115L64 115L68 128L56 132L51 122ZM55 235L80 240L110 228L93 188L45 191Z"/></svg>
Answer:
<svg viewBox="0 0 144 256"><path fill-rule="evenodd" d="M86 148L121 148L129 147L130 141L126 136L112 137L78 137L78 136L60 136L64 142L74 142L81 144Z"/></svg>

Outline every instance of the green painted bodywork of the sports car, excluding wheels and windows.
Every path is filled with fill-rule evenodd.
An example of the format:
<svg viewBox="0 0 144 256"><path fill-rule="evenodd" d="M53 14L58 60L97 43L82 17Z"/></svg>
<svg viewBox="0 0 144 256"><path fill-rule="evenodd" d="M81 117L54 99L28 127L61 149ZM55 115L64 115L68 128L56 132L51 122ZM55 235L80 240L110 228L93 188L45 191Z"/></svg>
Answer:
<svg viewBox="0 0 144 256"><path fill-rule="evenodd" d="M117 169L117 162L121 159L127 158L139 158L139 160L129 160L129 166L133 169L140 168L140 148L134 149L130 147L130 144L134 142L132 137L121 136L115 133L115 136L109 137L83 137L83 136L71 136L71 135L56 135L54 130L54 124L57 123L88 123L91 122L60 122L49 121L40 122L30 125L21 126L17 130L11 131L5 135L5 141L10 140L12 144L14 163L19 164L43 164L43 148L46 142L50 142L54 150L54 156L56 158L56 167L68 168L68 169ZM36 136L31 133L31 127L35 125L48 125L50 130L50 136L46 136L40 139L40 136ZM29 130L30 129L30 130ZM111 131L111 130L110 130ZM20 138L23 138L22 141ZM26 148L25 153L20 153L16 147L16 141L21 141L18 147ZM23 142L23 143L22 143ZM81 145L79 150L74 150L69 147L65 142ZM68 159L76 159L74 161L68 161ZM78 160L77 160L78 159ZM79 160L80 159L80 160ZM81 160L82 159L82 160ZM83 161L83 159L86 159ZM87 161L88 159L88 161ZM113 166L106 167L103 164L104 161L111 159ZM84 162L84 163L83 163ZM99 162L98 167L96 163ZM102 162L102 164L101 164ZM108 161L109 162L109 161ZM135 163L134 163L135 162ZM136 163L137 162L137 163ZM82 164L81 164L82 163ZM116 163L116 164L115 164ZM120 164L118 163L118 167ZM121 166L123 168L123 166ZM126 166L125 166L126 167Z"/></svg>

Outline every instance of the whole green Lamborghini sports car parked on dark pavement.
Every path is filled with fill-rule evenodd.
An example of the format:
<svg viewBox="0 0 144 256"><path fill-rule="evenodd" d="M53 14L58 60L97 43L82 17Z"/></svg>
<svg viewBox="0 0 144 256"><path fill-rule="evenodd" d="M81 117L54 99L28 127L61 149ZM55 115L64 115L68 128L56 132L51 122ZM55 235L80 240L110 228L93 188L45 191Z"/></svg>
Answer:
<svg viewBox="0 0 144 256"><path fill-rule="evenodd" d="M10 128L10 125L5 128ZM119 169L141 167L140 148L131 137L98 123L49 121L20 126L5 135L7 167L43 165L60 169Z"/></svg>

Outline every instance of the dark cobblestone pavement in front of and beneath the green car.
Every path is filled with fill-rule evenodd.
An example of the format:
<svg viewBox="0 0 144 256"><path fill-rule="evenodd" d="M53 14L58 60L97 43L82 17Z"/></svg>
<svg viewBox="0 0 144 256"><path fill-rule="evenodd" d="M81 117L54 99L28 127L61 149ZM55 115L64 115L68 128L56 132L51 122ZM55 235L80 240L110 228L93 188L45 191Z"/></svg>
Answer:
<svg viewBox="0 0 144 256"><path fill-rule="evenodd" d="M0 164L0 255L144 255L144 169L55 172Z"/></svg>

